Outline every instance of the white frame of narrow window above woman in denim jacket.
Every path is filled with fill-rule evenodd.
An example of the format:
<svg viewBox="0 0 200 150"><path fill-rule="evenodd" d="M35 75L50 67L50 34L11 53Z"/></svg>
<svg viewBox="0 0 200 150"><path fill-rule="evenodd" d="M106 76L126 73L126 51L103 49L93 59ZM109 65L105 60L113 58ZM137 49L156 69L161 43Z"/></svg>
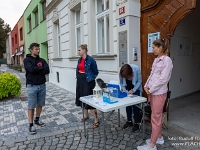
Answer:
<svg viewBox="0 0 200 150"><path fill-rule="evenodd" d="M80 22L79 23L77 23L76 22L76 12L77 11L79 11L80 10ZM81 8L79 8L79 9L77 9L76 11L75 11L75 38L76 38L76 55L78 55L78 47L79 47L79 45L78 45L78 40L77 40L77 29L78 28L80 28L80 43L82 43L82 17L81 17Z"/></svg>

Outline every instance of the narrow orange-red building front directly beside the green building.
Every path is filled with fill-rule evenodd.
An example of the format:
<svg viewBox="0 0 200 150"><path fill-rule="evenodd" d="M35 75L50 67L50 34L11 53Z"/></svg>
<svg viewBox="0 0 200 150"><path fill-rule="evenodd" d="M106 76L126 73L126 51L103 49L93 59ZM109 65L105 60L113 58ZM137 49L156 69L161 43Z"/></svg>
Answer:
<svg viewBox="0 0 200 150"><path fill-rule="evenodd" d="M25 57L24 15L22 15L18 21L18 33L19 52L16 55L19 57L19 64L23 65Z"/></svg>

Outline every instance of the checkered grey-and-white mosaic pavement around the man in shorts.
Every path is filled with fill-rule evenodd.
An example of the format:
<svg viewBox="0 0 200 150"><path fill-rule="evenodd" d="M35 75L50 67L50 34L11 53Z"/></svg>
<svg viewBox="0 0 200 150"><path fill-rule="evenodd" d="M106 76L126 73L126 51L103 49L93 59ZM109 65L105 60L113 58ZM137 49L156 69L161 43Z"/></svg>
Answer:
<svg viewBox="0 0 200 150"><path fill-rule="evenodd" d="M27 96L25 86L25 73L6 69L14 73L22 82L22 95ZM46 106L41 120L47 124L44 129L37 128L38 134L51 133L68 127L81 126L82 109L76 107L74 94L59 88L49 82L46 83ZM92 119L91 119L92 121ZM10 138L29 136L27 101L19 97L7 98L0 102L0 141Z"/></svg>

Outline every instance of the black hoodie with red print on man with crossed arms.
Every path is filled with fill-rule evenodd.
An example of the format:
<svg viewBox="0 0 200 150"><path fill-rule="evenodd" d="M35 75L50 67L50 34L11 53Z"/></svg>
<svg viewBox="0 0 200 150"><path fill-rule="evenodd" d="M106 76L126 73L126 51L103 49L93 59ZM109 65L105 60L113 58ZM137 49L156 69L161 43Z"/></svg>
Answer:
<svg viewBox="0 0 200 150"><path fill-rule="evenodd" d="M49 74L49 66L44 59L27 54L24 59L24 68L26 70L26 84L39 85L46 82L45 75Z"/></svg>

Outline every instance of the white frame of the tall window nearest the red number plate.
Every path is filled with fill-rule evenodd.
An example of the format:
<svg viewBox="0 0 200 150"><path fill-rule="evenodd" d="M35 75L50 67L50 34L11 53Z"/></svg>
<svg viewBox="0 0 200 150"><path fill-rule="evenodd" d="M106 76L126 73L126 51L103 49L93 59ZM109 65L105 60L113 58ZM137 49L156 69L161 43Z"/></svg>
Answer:
<svg viewBox="0 0 200 150"><path fill-rule="evenodd" d="M100 13L98 13L98 9L97 9L97 0L95 0L95 10L96 10L96 53L97 54L109 54L110 53L110 49L108 51L107 49L107 28L106 28L106 23L107 23L107 20L106 20L106 17L108 16L109 17L109 9L106 10L106 0L104 0L104 10ZM99 36L98 36L98 19L100 18L104 18L104 52L103 52L103 49L99 50Z"/></svg>

